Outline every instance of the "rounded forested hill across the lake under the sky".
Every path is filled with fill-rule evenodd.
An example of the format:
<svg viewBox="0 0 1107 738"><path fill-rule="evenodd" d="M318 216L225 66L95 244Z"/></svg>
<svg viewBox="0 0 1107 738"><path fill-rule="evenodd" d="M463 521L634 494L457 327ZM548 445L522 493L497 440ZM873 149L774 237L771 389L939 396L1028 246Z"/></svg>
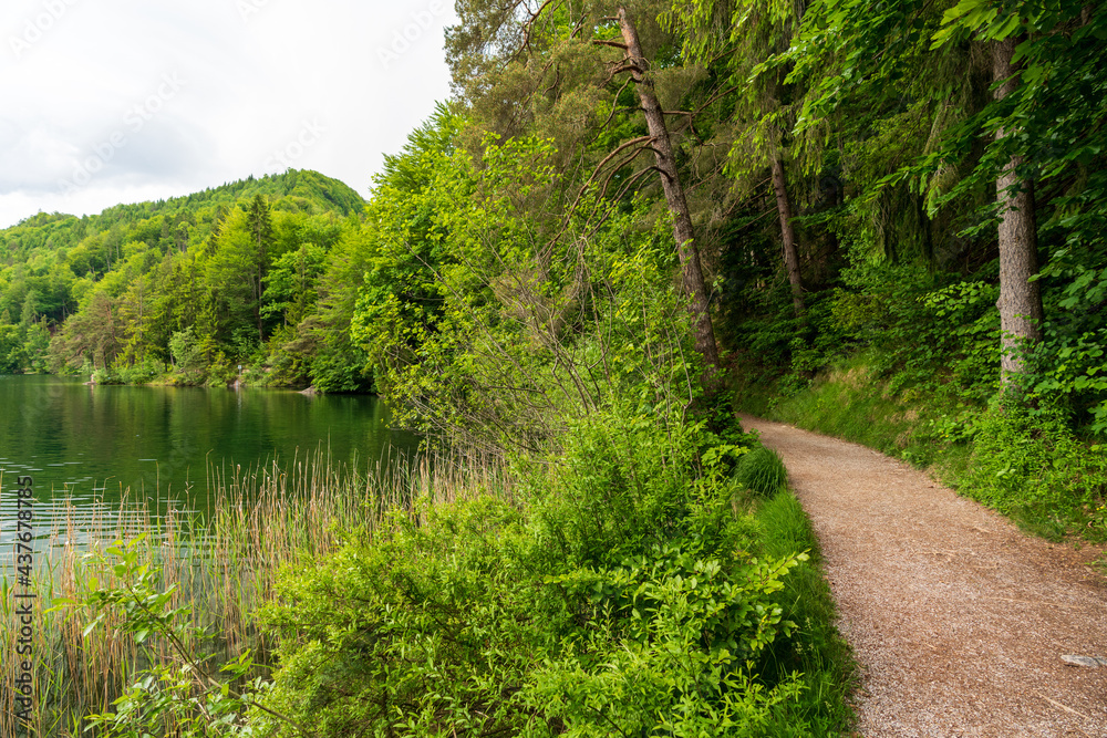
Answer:
<svg viewBox="0 0 1107 738"><path fill-rule="evenodd" d="M306 384L318 351L284 346L306 337L306 318L333 318L318 305L321 290L330 295L321 282L364 206L341 181L289 169L100 215L27 218L0 231L0 373L144 382L173 366L176 381L199 383L246 363L273 383ZM331 361L339 368L321 383L364 388L363 363Z"/></svg>

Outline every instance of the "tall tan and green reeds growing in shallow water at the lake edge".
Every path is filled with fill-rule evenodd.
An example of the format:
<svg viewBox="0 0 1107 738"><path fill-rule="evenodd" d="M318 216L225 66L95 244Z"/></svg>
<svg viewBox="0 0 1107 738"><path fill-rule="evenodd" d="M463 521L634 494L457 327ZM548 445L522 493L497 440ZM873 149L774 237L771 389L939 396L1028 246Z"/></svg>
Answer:
<svg viewBox="0 0 1107 738"><path fill-rule="evenodd" d="M11 570L0 580L0 736L89 736L85 716L113 710L133 677L172 659L168 644L139 645L114 616L85 635L99 613L80 606L52 609L60 600L81 601L97 585L120 585L104 550L115 541L139 541L143 562L162 572L162 589L176 586L174 607L190 607L187 625L209 637L192 637L193 653L216 663L255 653L262 671L275 666L258 627L257 611L272 596L281 570L314 565L351 533L374 536L390 514L418 519L424 503L495 493L510 497L510 485L492 465L462 466L436 458L381 459L359 471L335 464L321 450L288 465L277 460L254 468L209 465L213 501L203 510L180 510L156 499L127 499L94 506L92 517L69 503L65 524L37 542L33 652L34 703L31 720L14 713L18 637ZM265 676L266 674L261 674ZM172 726L166 726L172 735Z"/></svg>

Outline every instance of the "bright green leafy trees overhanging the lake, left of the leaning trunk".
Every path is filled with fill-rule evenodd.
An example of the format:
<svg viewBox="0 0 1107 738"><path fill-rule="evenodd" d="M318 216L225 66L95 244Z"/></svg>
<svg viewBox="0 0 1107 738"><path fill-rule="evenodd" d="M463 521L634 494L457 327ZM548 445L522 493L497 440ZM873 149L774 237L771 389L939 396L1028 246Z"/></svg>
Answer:
<svg viewBox="0 0 1107 738"><path fill-rule="evenodd" d="M549 142L489 144L477 163L435 141L407 155L432 184L381 183L351 324L405 419L504 453L615 402L671 418L696 370L665 224L645 204L591 231L535 222L563 185Z"/></svg>

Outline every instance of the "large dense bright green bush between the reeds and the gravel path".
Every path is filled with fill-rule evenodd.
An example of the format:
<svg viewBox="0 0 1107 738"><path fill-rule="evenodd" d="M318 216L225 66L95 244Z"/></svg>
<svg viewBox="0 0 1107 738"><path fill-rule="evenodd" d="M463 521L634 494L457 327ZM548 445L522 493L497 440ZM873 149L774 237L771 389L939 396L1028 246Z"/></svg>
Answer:
<svg viewBox="0 0 1107 738"><path fill-rule="evenodd" d="M807 555L785 539L758 553L738 488L697 476L695 434L607 416L566 440L515 482L524 507L493 490L420 505L290 573L268 610L270 704L350 737L800 736L840 720L804 700L805 677L758 668L797 633L779 597Z"/></svg>

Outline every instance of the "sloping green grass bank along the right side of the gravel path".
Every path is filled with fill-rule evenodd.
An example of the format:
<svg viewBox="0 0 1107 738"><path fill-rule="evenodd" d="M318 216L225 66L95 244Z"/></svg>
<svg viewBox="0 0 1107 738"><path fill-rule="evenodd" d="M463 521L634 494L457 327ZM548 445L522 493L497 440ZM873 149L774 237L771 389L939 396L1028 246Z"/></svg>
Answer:
<svg viewBox="0 0 1107 738"><path fill-rule="evenodd" d="M928 469L943 484L1058 541L1107 542L1107 454L1048 407L980 407L892 392L865 355L787 397L747 393L741 409L845 438Z"/></svg>

